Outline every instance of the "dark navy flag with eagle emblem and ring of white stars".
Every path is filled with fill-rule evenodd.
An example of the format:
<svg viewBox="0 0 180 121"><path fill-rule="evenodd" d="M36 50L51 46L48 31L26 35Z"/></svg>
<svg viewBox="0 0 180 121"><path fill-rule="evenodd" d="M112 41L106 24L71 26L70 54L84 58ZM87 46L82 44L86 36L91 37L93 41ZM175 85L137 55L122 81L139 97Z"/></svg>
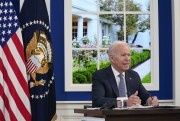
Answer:
<svg viewBox="0 0 180 121"><path fill-rule="evenodd" d="M33 121L56 114L53 52L45 0L25 0L20 12Z"/></svg>

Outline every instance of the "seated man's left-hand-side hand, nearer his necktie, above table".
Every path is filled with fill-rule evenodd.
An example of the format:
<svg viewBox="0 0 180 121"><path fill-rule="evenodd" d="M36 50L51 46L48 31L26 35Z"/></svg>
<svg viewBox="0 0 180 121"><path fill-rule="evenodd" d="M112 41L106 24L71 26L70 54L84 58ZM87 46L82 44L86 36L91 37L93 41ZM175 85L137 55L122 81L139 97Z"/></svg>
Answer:
<svg viewBox="0 0 180 121"><path fill-rule="evenodd" d="M136 91L128 98L127 100L128 107L141 105L141 99L137 95L138 95L138 91Z"/></svg>

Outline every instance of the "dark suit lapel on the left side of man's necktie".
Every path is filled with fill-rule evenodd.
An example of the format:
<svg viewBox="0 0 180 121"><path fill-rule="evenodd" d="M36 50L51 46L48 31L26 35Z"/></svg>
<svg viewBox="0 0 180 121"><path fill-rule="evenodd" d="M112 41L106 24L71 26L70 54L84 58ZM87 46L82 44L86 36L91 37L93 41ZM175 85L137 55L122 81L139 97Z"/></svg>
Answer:
<svg viewBox="0 0 180 121"><path fill-rule="evenodd" d="M116 83L116 79L114 77L114 73L112 71L112 68L111 66L109 66L107 68L107 73L108 73L108 77L109 77L109 83L114 91L114 93L116 94L116 96L118 97L119 96L119 91L118 91L118 87L117 87L117 83Z"/></svg>

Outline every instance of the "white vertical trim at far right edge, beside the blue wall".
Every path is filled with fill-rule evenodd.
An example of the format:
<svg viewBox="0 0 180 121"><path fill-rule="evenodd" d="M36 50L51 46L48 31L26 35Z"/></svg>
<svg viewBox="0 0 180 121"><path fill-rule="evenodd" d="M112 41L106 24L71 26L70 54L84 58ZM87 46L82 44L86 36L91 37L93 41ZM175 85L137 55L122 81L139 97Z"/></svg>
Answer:
<svg viewBox="0 0 180 121"><path fill-rule="evenodd" d="M173 97L174 104L180 106L180 0L172 0L173 26Z"/></svg>

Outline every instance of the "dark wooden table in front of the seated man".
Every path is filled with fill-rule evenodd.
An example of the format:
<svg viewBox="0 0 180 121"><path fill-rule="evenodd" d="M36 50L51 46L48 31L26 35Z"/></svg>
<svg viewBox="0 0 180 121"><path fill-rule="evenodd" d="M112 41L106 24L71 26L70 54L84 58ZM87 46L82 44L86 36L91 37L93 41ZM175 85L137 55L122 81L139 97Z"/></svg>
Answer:
<svg viewBox="0 0 180 121"><path fill-rule="evenodd" d="M180 107L160 106L142 109L74 109L88 117L102 117L105 121L180 121Z"/></svg>

